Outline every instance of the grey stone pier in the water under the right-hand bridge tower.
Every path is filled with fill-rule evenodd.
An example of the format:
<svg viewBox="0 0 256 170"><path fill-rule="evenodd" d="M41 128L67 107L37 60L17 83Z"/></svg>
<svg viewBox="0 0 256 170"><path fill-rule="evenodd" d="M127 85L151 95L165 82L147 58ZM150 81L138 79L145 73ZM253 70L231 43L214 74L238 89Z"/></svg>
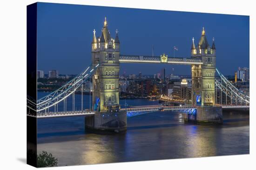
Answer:
<svg viewBox="0 0 256 170"><path fill-rule="evenodd" d="M222 107L196 107L196 114L186 114L185 122L222 124Z"/></svg>

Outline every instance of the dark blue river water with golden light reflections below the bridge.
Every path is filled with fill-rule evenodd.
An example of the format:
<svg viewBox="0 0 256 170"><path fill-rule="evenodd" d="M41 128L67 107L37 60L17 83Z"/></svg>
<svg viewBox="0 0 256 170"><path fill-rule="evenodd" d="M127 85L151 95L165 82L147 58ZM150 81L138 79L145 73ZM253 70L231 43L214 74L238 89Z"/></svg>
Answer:
<svg viewBox="0 0 256 170"><path fill-rule="evenodd" d="M38 97L47 93L38 92ZM84 102L89 103L88 95ZM81 95L76 95L76 106ZM120 100L124 107L125 100ZM154 105L147 99L128 106ZM61 107L60 107L61 108ZM128 118L125 134L99 135L84 130L84 116L38 119L38 153L58 158L58 166L249 154L249 113L223 112L223 125L184 124L183 113L152 112Z"/></svg>

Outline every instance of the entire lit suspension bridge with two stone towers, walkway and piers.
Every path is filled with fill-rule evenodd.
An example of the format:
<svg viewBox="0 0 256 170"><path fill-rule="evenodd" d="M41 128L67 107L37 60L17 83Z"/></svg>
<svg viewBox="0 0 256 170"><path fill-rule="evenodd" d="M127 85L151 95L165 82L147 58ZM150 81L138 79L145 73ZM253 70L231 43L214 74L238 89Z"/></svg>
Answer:
<svg viewBox="0 0 256 170"><path fill-rule="evenodd" d="M85 116L85 127L91 131L126 131L127 117L152 111L179 110L185 114L186 121L222 123L222 108L249 108L249 96L240 92L216 69L216 46L213 38L209 45L206 32L202 29L201 38L195 45L192 39L190 57L128 56L120 54L118 31L111 38L105 18L101 36L93 31L92 64L47 96L34 100L27 97L27 115L36 118L64 116ZM120 63L167 63L191 65L192 105L183 107L141 106L121 108L119 104ZM218 76L218 79L216 79ZM83 106L83 83L91 80L92 104L90 109ZM216 105L216 88L226 94L234 104ZM75 92L81 90L81 110L75 110ZM72 97L72 111L67 111L67 98ZM91 100L91 98L90 98ZM60 108L60 105L62 108Z"/></svg>

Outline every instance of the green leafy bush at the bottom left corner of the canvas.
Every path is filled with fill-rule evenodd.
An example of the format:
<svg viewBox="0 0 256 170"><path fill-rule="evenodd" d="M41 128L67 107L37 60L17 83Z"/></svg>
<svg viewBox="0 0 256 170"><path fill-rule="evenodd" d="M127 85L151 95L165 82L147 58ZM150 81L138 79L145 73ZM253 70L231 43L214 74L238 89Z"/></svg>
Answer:
<svg viewBox="0 0 256 170"><path fill-rule="evenodd" d="M37 155L37 167L57 166L57 164L58 159L53 157L51 153L47 153L47 151L42 151Z"/></svg>

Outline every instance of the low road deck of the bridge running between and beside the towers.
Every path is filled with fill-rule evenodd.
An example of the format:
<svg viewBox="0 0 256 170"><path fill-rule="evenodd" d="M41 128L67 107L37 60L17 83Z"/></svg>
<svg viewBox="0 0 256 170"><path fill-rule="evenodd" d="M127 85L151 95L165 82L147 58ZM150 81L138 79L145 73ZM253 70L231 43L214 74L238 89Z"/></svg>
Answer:
<svg viewBox="0 0 256 170"><path fill-rule="evenodd" d="M249 105L218 105L222 109L229 108L249 108ZM132 112L154 112L154 111L168 111L168 110L187 110L193 111L196 107L194 106L162 106L162 105L148 105L148 106L135 106L129 108L122 108L121 110L126 110L129 113ZM56 118L56 117L67 117L67 116L91 116L94 115L94 111L83 110L83 111L67 111L67 112L47 112L47 113L37 113L37 116L32 114L27 114L27 116L36 118ZM136 114L139 115L139 114Z"/></svg>

